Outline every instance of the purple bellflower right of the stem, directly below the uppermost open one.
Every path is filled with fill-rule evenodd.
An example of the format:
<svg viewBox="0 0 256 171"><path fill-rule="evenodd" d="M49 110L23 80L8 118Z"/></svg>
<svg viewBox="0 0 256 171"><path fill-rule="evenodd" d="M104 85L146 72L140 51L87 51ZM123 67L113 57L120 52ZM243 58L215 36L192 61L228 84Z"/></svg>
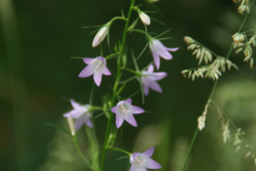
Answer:
<svg viewBox="0 0 256 171"><path fill-rule="evenodd" d="M142 76L140 77L140 81L142 83L145 96L148 95L149 89L162 93L162 89L157 81L165 78L167 72L154 72L154 66L153 64L150 64L147 70L143 70L141 74Z"/></svg>

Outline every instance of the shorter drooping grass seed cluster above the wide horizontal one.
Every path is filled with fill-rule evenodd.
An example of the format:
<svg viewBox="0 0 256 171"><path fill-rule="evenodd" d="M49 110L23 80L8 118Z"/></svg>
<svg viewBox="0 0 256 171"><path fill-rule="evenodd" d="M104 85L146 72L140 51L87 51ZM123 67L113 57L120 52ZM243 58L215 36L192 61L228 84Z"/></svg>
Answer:
<svg viewBox="0 0 256 171"><path fill-rule="evenodd" d="M195 55L196 60L198 60L198 64L201 64L203 61L205 64L212 62L213 56L208 49L200 45L191 37L185 36L184 41L187 44L187 50L193 51L192 54Z"/></svg>

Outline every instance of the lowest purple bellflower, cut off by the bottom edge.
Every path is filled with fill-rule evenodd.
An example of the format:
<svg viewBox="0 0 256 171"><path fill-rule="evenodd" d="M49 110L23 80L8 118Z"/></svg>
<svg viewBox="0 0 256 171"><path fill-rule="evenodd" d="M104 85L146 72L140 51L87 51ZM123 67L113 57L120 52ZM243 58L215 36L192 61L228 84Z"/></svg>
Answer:
<svg viewBox="0 0 256 171"><path fill-rule="evenodd" d="M155 148L145 150L144 152L134 152L129 157L131 167L129 171L147 171L147 169L160 169L161 165L151 159Z"/></svg>

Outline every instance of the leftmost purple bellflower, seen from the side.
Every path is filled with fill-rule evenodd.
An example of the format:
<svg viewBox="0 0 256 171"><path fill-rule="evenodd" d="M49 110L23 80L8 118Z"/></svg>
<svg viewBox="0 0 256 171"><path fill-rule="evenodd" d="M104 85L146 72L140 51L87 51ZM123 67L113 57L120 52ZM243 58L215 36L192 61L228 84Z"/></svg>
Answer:
<svg viewBox="0 0 256 171"><path fill-rule="evenodd" d="M89 112L88 105L81 106L73 99L71 100L71 104L74 107L73 110L66 112L63 114L64 117L76 119L75 129L79 130L83 124L88 127L92 127L92 123L90 120L91 113Z"/></svg>

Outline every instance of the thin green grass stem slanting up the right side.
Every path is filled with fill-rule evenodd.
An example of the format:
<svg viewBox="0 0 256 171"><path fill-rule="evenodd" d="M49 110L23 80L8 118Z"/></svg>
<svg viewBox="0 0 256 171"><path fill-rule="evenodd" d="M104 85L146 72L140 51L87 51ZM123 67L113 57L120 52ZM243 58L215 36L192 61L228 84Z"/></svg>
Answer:
<svg viewBox="0 0 256 171"><path fill-rule="evenodd" d="M255 1L255 0L252 1L251 6L250 6L250 9L251 9L251 7L253 6L254 1ZM240 32L240 31L241 31L241 29L242 29L242 27L243 27L245 21L247 20L248 15L249 15L249 14L247 13L246 16L244 17L244 19L243 19L243 21L241 22L241 24L240 24L240 26L239 26L237 32ZM231 44L231 46L230 46L229 53L228 53L228 55L227 55L227 57L226 57L227 60L230 58L230 54L231 54L232 48L233 48L233 44ZM215 90L216 90L216 87L217 87L217 84L218 84L218 79L214 82L213 89L212 89L211 94L210 94L210 96L209 96L209 98L208 98L208 100L207 100L207 103L212 100L213 95L214 95ZM191 143L190 143L189 149L188 149L188 151L187 151L187 153L186 153L186 157L185 157L185 160L184 160L184 163L183 163L183 166L182 166L182 170L181 170L181 171L184 171L184 169L185 169L185 165L186 165L188 156L189 156L189 154L190 154L190 151L191 151L191 149L192 149L192 147L193 147L193 144L194 144L195 138L196 138L196 136L197 136L198 130L199 130L198 127L196 127L196 131L195 131L194 136L193 136L193 139L192 139L192 141L191 141Z"/></svg>

